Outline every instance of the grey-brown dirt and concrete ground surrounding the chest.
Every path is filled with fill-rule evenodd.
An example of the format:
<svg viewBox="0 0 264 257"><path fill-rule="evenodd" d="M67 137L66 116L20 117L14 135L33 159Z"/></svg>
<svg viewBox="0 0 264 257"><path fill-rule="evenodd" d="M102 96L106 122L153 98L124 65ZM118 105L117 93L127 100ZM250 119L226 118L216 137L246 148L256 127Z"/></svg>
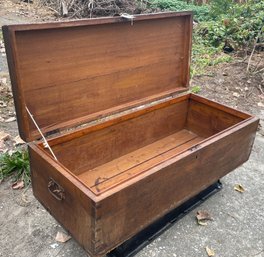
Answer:
<svg viewBox="0 0 264 257"><path fill-rule="evenodd" d="M25 3L0 0L0 25L55 20L52 12ZM0 36L1 40L1 36ZM0 50L4 49L0 45ZM261 119L250 160L223 178L224 189L198 209L209 211L214 221L198 226L195 209L166 233L143 249L138 257L207 256L204 247L215 249L215 256L264 256L264 53L255 53L247 72L248 58L209 67L207 75L195 77L192 86L209 99L249 112ZM0 131L10 137L0 144L1 152L17 146L17 124L4 50L0 51ZM23 147L23 146L22 146ZM245 193L235 192L235 183ZM14 191L11 181L0 183L0 256L44 257L87 256L71 239L58 243L61 226L32 195L31 188Z"/></svg>

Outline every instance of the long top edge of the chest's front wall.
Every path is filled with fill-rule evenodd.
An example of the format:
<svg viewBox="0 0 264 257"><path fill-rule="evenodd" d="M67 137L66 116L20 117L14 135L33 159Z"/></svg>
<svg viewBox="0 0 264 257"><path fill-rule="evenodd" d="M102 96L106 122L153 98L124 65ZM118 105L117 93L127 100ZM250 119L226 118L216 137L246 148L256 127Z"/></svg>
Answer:
<svg viewBox="0 0 264 257"><path fill-rule="evenodd" d="M248 126L248 125L251 125L253 123L256 123L258 124L259 123L259 119L258 118L255 118L255 117L252 117L252 118L248 118L247 120L244 120L244 121L241 121L239 122L238 124L236 125L233 125L232 127L230 128L227 128L211 137L208 137L204 140L202 140L200 143L198 144L195 144L194 146L190 147L189 149L186 149L180 153L178 153L177 155L175 155L174 157L168 159L168 160L165 160L164 162L146 170L145 172L141 173L141 174L138 174L137 176L131 178L129 181L126 181L122 184L119 184L117 185L116 187L113 187L111 189L111 192L110 191L106 191L105 193L102 193L100 195L96 195L97 196L97 200L98 201L102 201L104 200L105 198L121 191L122 189L128 187L128 186L131 186L133 185L134 183L137 183L138 181L144 179L145 177L148 177L150 176L151 174L153 173L156 173L158 172L159 170L163 169L164 167L166 166L169 166L171 164L173 164L174 162L188 156L190 153L196 153L198 152L198 150L200 150L201 148L203 147L206 147L212 143L215 143L217 142L218 140L232 134L232 133L235 133L241 129L243 129L244 127ZM81 182L81 181L80 181ZM82 183L82 182L81 182ZM209 186L209 185L208 185Z"/></svg>

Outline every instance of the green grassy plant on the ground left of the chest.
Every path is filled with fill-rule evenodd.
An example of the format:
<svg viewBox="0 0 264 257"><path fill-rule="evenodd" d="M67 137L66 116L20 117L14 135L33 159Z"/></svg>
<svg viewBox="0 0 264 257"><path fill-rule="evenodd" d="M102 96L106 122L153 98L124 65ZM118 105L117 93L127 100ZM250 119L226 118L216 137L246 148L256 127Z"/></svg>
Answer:
<svg viewBox="0 0 264 257"><path fill-rule="evenodd" d="M25 150L18 150L11 155L6 153L0 157L0 180L12 176L14 181L23 180L30 183L29 156Z"/></svg>

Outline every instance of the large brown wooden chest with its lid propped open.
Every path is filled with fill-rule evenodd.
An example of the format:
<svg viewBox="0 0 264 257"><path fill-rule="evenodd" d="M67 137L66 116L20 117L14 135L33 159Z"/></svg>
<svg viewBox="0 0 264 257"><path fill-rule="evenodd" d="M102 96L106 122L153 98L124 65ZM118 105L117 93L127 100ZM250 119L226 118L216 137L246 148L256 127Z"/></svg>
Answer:
<svg viewBox="0 0 264 257"><path fill-rule="evenodd" d="M91 256L249 158L257 118L179 95L189 84L190 12L3 31L34 195Z"/></svg>

